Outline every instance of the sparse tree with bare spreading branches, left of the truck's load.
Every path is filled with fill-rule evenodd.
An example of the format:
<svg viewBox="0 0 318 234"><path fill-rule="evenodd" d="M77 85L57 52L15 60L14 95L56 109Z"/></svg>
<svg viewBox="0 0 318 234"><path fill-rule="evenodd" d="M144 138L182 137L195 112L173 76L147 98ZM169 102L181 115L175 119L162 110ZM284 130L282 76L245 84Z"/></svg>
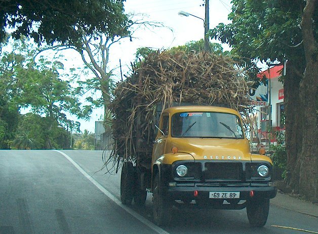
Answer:
<svg viewBox="0 0 318 234"><path fill-rule="evenodd" d="M132 20L133 17L137 17L138 19ZM47 48L53 50L73 49L81 55L86 67L94 74L94 77L82 82L81 86L86 85L86 89L101 91L101 99L94 100L92 97L88 97L87 101L91 102L93 106L103 106L105 109L105 118L107 115L107 106L111 99L111 89L113 84L111 76L113 75L113 71L117 68L109 66L111 47L123 40L132 41L134 33L141 28L145 29L148 27L162 26L161 23L145 21L139 17L139 15L129 16L128 24L121 34L97 31L94 32L93 35L89 35L86 33L85 28L82 28L82 30L79 30L79 32L82 33L81 39L76 43L65 43Z"/></svg>

